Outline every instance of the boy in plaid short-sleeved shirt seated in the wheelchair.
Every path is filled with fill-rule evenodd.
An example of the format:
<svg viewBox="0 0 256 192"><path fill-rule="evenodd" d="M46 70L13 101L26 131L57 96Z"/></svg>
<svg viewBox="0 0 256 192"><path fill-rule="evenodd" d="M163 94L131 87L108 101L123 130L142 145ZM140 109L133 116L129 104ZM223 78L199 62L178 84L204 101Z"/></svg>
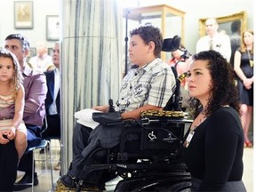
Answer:
<svg viewBox="0 0 256 192"><path fill-rule="evenodd" d="M172 69L158 58L163 44L159 28L152 25L140 26L133 29L130 36L129 60L134 65L124 76L117 108L123 119L139 119L142 110L164 108L175 89L176 79ZM108 106L94 109L106 112ZM82 188L87 190L104 189L104 172L87 174L83 171L84 165L86 168L99 163L90 158L91 152L95 148L115 147L119 144L122 132L123 124L108 127L100 124L94 130L76 124L73 133L73 161L68 173L58 180L57 191L76 188L78 180L84 180ZM101 164L106 163L104 156L99 158Z"/></svg>

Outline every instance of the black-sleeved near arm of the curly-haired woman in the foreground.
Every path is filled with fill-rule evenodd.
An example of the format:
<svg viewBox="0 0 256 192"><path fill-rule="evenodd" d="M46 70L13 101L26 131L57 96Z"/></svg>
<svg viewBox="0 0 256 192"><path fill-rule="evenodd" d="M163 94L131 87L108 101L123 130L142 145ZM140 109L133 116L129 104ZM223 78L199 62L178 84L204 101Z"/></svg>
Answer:
<svg viewBox="0 0 256 192"><path fill-rule="evenodd" d="M228 178L242 178L243 164L240 160L243 155L237 152L237 148L241 147L239 142L242 140L243 130L238 115L232 115L235 112L230 111L216 111L207 122L204 180L199 191L221 191Z"/></svg>

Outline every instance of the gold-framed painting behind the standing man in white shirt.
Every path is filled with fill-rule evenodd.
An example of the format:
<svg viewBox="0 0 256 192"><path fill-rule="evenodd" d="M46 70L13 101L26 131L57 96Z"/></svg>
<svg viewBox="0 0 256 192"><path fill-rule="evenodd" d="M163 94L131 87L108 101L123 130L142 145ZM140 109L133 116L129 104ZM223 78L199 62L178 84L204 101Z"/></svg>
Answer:
<svg viewBox="0 0 256 192"><path fill-rule="evenodd" d="M208 18L199 19L199 35L205 36L205 21ZM236 12L231 15L217 17L216 20L219 23L219 31L226 33L228 36L230 35L230 27L232 22L236 20L241 21L240 31L244 31L247 28L247 15L246 12Z"/></svg>

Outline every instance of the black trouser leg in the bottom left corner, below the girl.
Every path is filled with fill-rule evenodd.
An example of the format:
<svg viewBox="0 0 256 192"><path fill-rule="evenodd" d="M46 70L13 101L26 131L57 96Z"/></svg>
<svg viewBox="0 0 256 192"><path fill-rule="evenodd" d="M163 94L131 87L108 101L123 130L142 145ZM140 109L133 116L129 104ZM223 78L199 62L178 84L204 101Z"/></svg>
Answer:
<svg viewBox="0 0 256 192"><path fill-rule="evenodd" d="M17 176L18 154L14 141L0 144L0 191L12 191Z"/></svg>

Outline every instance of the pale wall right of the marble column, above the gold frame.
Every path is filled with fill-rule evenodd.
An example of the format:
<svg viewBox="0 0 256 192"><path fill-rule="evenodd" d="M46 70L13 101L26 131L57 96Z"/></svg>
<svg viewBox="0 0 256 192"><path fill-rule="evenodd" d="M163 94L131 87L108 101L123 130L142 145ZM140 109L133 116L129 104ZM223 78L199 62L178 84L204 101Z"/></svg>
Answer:
<svg viewBox="0 0 256 192"><path fill-rule="evenodd" d="M236 12L247 12L248 28L253 28L252 0L172 0L164 1L186 12L185 45L191 53L196 52L196 41L199 38L200 18L221 17Z"/></svg>

